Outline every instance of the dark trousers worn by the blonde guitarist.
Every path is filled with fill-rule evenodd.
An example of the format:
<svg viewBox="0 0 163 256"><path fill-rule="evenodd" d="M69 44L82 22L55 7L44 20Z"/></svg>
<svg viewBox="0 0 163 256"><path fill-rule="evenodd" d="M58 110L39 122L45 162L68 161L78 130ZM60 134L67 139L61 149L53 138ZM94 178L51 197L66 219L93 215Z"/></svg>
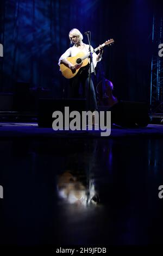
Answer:
<svg viewBox="0 0 163 256"><path fill-rule="evenodd" d="M87 111L95 111L97 109L96 93L92 79L89 83L89 67L80 69L78 74L71 78L68 97L84 97Z"/></svg>

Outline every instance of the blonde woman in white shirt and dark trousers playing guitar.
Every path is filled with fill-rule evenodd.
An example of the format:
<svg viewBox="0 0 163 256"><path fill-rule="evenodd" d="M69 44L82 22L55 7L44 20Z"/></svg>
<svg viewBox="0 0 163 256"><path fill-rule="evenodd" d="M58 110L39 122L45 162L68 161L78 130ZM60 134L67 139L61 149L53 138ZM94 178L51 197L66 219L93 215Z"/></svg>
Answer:
<svg viewBox="0 0 163 256"><path fill-rule="evenodd" d="M71 62L67 60L67 57L74 57L79 52L84 52L86 54L89 53L89 45L84 44L84 42L82 41L83 35L76 28L73 28L70 31L69 38L73 46L68 48L68 50L64 54L62 54L58 64L66 65L73 72L73 70L75 70L75 67ZM92 46L91 46L91 52L93 52ZM93 64L91 64L91 73L93 72L93 66L95 68L97 65L97 62L99 62L102 59L102 53L103 53L102 46L99 46L98 55L95 52L92 53ZM78 98L79 92L80 92L80 84L81 84L83 89L83 96L86 98L87 110L90 110L93 112L97 109L97 101L96 101L96 94L95 94L95 89L94 89L92 80L91 80L91 84L89 84L89 72L90 72L89 65L86 65L85 67L82 67L78 71L78 74L76 76L70 79L70 89L69 89L68 97Z"/></svg>

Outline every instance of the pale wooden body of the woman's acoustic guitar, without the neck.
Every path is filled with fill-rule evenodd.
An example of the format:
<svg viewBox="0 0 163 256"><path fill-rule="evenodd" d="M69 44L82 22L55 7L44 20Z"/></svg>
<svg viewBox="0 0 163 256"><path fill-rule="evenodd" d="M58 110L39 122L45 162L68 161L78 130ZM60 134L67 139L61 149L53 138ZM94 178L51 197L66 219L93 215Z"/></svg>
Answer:
<svg viewBox="0 0 163 256"><path fill-rule="evenodd" d="M79 71L79 69L82 68L83 66L86 66L89 63L89 59L88 58L82 60L82 58L84 56L85 56L84 52L79 52L74 57L68 57L67 60L69 62L71 62L76 67L76 71L72 71L67 66L65 66L65 64L60 64L60 71L62 72L62 75L65 78L68 78L68 79L76 76L78 71Z"/></svg>

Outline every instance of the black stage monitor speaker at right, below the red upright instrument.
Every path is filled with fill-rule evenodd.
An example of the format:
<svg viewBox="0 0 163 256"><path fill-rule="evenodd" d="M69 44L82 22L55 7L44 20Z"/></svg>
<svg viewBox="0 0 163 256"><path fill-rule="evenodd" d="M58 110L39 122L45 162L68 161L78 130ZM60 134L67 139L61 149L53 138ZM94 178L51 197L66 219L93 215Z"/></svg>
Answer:
<svg viewBox="0 0 163 256"><path fill-rule="evenodd" d="M146 102L118 101L109 111L112 124L123 127L146 127L149 124L149 106Z"/></svg>

